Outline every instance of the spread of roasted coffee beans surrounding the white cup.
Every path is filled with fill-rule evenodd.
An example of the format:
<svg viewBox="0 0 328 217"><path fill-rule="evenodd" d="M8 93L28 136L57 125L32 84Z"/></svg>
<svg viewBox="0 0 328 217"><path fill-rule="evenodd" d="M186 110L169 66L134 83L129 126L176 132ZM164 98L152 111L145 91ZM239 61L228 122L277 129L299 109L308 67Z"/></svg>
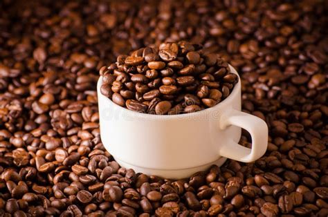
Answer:
<svg viewBox="0 0 328 217"><path fill-rule="evenodd" d="M327 216L327 23L320 0L0 1L0 215ZM262 158L183 180L113 160L98 71L165 41L236 68L243 111L268 124Z"/></svg>

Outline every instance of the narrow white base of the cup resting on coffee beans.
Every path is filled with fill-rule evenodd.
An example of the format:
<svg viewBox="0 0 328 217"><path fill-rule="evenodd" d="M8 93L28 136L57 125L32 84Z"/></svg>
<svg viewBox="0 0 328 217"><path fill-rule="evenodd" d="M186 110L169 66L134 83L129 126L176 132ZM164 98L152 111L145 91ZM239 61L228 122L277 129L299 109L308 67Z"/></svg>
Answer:
<svg viewBox="0 0 328 217"><path fill-rule="evenodd" d="M201 165L199 167L191 167L186 169L149 169L145 167L137 167L134 164L129 164L122 160L115 159L121 167L125 167L127 169L134 169L136 173L145 173L146 175L152 176L160 176L162 178L179 180L182 178L189 178L192 174L197 173L198 171L206 171L213 164L216 164L218 167L221 167L224 162L226 162L227 158L219 158L213 162L208 164Z"/></svg>

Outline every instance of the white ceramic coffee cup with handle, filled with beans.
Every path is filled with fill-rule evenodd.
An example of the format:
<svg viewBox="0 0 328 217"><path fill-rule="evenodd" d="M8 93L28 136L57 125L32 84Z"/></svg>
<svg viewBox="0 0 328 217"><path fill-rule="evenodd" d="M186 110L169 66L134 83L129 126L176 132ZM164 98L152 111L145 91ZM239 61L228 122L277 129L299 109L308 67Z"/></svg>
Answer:
<svg viewBox="0 0 328 217"><path fill-rule="evenodd" d="M102 95L101 85L102 77L97 85L102 143L120 166L136 173L186 178L212 164L221 166L226 158L253 162L266 151L268 126L241 111L240 77L232 93L216 106L181 115L130 111ZM241 128L252 137L251 149L237 143Z"/></svg>

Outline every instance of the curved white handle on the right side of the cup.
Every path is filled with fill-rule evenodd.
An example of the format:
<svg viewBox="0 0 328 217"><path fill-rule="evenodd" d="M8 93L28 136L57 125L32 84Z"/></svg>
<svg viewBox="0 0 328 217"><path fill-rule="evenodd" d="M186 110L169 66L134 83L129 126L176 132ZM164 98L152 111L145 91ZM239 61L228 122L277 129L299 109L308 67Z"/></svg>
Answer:
<svg viewBox="0 0 328 217"><path fill-rule="evenodd" d="M222 114L219 128L226 129L230 125L239 126L250 133L252 149L228 140L220 147L219 155L241 162L253 162L264 155L268 147L268 126L264 120L255 115L232 109Z"/></svg>

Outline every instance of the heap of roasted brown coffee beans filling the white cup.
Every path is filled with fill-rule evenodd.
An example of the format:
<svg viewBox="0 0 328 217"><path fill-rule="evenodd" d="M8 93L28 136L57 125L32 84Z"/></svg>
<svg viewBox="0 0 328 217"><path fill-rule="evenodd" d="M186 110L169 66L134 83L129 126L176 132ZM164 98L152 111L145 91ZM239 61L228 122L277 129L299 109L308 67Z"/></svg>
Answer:
<svg viewBox="0 0 328 217"><path fill-rule="evenodd" d="M238 77L216 54L185 41L119 55L116 64L100 68L100 91L119 106L140 113L177 115L215 106Z"/></svg>

